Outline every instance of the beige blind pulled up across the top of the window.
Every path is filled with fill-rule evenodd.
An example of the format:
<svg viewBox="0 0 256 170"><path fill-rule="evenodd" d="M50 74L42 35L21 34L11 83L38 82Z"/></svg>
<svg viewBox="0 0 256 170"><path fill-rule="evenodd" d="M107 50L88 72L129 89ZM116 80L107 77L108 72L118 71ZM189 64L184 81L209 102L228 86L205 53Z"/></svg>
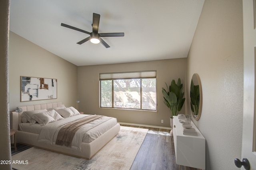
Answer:
<svg viewBox="0 0 256 170"><path fill-rule="evenodd" d="M100 73L100 80L118 80L129 78L156 78L156 70L140 72Z"/></svg>

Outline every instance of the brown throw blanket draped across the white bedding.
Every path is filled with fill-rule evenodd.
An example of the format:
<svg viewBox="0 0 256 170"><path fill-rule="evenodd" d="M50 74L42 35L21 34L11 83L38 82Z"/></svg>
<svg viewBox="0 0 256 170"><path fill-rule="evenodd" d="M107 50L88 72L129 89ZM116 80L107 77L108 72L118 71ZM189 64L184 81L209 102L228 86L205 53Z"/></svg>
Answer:
<svg viewBox="0 0 256 170"><path fill-rule="evenodd" d="M90 116L86 116L84 118L75 120L73 122L70 122L66 125L64 125L60 131L58 132L58 136L56 139L55 144L57 145L65 145L68 147L71 147L72 144L72 140L74 138L74 135L76 133L76 131L82 127L84 124L87 124L89 122L92 122L93 120L96 120L98 118L101 118L103 116L100 115L90 115Z"/></svg>

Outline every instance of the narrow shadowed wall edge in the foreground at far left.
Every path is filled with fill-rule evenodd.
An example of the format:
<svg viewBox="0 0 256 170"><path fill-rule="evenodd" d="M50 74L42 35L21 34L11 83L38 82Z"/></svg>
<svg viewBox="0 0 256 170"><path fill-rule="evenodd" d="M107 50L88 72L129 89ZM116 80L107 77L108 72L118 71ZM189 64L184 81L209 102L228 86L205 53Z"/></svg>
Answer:
<svg viewBox="0 0 256 170"><path fill-rule="evenodd" d="M8 107L8 31L9 0L0 1L0 160L11 160L10 121ZM11 170L11 164L0 164L1 170Z"/></svg>

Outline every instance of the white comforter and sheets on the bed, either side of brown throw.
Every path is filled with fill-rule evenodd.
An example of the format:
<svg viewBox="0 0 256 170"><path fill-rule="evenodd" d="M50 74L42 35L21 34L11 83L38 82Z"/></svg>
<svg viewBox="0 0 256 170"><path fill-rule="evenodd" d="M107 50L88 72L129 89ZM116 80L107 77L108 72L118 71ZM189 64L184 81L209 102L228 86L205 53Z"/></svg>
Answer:
<svg viewBox="0 0 256 170"><path fill-rule="evenodd" d="M55 144L58 131L60 128L66 123L77 120L79 118L88 116L86 114L80 114L76 116L72 116L69 118L64 118L62 120L58 120L56 122L49 123L45 126L41 126L40 124L30 125L29 123L21 123L20 130L30 133L39 134L38 142L43 142L46 144ZM81 143L90 143L100 135L108 131L110 128L115 126L117 123L116 118L111 118L104 116L99 120L94 120L84 126L82 126L75 134L74 139L72 141L72 148L75 150L81 151ZM58 146L58 145L56 145Z"/></svg>

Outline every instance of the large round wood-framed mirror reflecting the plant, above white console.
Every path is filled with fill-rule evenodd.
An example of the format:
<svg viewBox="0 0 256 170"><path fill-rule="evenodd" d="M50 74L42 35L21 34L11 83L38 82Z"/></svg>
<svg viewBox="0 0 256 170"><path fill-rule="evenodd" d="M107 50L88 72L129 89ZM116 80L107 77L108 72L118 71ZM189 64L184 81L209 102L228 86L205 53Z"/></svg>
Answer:
<svg viewBox="0 0 256 170"><path fill-rule="evenodd" d="M202 111L202 86L196 73L192 76L190 84L190 106L193 118L198 120Z"/></svg>

